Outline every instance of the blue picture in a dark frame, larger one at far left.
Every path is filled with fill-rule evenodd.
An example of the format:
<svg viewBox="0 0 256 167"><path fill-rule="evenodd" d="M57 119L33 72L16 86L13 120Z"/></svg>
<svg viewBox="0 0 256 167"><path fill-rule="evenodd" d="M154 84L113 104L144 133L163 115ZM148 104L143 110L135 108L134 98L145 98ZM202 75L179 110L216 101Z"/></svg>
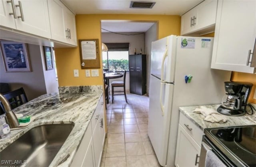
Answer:
<svg viewBox="0 0 256 167"><path fill-rule="evenodd" d="M30 72L30 62L26 44L1 41L2 58L6 72Z"/></svg>

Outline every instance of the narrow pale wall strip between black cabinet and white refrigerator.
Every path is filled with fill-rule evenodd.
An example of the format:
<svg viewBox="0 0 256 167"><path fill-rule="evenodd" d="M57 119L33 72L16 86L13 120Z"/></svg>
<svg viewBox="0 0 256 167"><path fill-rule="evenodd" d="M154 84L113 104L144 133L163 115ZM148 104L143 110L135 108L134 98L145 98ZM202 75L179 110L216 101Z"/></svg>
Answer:
<svg viewBox="0 0 256 167"><path fill-rule="evenodd" d="M145 50L147 55L147 93L149 95L151 43L157 40L157 23L153 24L145 33Z"/></svg>

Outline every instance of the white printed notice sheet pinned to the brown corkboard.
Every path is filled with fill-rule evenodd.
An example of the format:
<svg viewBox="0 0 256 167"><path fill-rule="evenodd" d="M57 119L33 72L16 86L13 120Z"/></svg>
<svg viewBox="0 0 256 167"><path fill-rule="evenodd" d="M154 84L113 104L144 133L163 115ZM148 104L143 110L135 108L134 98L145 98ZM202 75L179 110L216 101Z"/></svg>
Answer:
<svg viewBox="0 0 256 167"><path fill-rule="evenodd" d="M82 57L83 60L96 59L96 42L95 41L82 41Z"/></svg>

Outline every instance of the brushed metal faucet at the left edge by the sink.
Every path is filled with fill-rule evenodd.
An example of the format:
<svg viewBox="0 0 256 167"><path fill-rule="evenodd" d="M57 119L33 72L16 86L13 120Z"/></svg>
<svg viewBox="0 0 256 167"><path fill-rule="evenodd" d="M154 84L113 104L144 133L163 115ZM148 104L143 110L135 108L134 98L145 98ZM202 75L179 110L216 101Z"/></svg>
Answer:
<svg viewBox="0 0 256 167"><path fill-rule="evenodd" d="M5 121L9 124L10 128L18 127L20 125L18 118L11 109L9 101L0 93L0 101L2 102L5 110Z"/></svg>

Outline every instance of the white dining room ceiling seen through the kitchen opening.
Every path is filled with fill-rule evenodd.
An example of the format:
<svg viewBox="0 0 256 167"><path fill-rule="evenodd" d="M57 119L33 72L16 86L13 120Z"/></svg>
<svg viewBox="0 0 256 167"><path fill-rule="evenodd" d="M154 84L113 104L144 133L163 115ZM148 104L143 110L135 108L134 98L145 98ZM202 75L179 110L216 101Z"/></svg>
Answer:
<svg viewBox="0 0 256 167"><path fill-rule="evenodd" d="M153 24L148 22L102 22L101 28L105 30L101 30L101 32L146 32Z"/></svg>

